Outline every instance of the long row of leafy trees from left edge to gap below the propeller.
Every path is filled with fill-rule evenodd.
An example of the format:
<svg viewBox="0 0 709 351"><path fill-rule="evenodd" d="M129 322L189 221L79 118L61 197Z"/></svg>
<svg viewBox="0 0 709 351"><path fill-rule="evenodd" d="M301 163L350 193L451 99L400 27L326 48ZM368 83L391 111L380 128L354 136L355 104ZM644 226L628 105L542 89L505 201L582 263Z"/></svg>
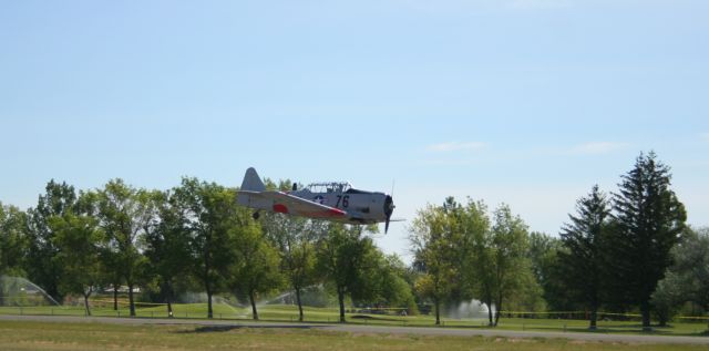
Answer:
<svg viewBox="0 0 709 351"><path fill-rule="evenodd" d="M278 214L255 221L236 204L236 192L188 177L169 190L113 179L76 192L51 180L35 207L0 206L0 275L28 277L58 301L81 296L88 314L101 287L111 288L117 310L122 286L131 316L137 287L143 298L166 303L169 316L179 295L204 291L207 318L213 297L228 293L247 301L258 319L260 297L292 289L302 320L300 293L314 285L337 291L342 321L346 299L415 306L403 262L368 236L376 227Z"/></svg>

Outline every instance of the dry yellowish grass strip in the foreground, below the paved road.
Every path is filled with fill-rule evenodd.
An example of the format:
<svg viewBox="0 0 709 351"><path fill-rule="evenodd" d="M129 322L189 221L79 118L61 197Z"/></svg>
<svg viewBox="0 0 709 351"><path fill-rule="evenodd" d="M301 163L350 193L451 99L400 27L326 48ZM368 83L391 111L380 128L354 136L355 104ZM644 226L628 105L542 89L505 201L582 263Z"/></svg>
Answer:
<svg viewBox="0 0 709 351"><path fill-rule="evenodd" d="M0 321L0 350L706 350L562 339L422 337L311 329Z"/></svg>

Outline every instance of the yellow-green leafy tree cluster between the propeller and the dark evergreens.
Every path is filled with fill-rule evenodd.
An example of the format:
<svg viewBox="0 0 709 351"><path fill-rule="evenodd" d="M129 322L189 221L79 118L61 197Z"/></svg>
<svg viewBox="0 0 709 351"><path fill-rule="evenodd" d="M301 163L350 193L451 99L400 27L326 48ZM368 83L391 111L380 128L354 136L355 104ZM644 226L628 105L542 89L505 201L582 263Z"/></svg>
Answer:
<svg viewBox="0 0 709 351"><path fill-rule="evenodd" d="M491 226L482 202L469 199L463 207L449 197L441 207L429 205L413 220L410 241L423 272L415 288L433 301L436 323L444 301L479 299L487 306L491 326L497 324L505 301L543 308L526 255L526 225L506 205L495 209L493 218ZM527 298L520 298L521 292Z"/></svg>

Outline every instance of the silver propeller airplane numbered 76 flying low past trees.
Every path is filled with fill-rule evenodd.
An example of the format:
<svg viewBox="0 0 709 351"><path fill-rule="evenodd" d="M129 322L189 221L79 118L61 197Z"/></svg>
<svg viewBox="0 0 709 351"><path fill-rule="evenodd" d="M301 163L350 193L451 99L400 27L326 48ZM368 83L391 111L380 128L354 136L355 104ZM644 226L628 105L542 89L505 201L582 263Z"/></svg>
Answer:
<svg viewBox="0 0 709 351"><path fill-rule="evenodd" d="M255 208L254 219L259 210L326 219L345 224L384 223L384 233L389 230L394 203L391 195L378 192L364 192L352 188L346 182L314 183L292 190L266 190L266 186L254 167L246 169L238 203Z"/></svg>

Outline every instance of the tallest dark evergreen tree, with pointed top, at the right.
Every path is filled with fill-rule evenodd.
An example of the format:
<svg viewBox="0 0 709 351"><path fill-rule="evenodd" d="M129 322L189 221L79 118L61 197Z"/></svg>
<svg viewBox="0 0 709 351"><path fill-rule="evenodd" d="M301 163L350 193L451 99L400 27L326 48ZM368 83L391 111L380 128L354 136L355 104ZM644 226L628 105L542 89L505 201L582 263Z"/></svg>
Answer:
<svg viewBox="0 0 709 351"><path fill-rule="evenodd" d="M640 154L613 198L616 227L610 247L616 285L640 308L646 330L650 328L650 296L671 264L670 249L687 219L670 180L669 167L655 153Z"/></svg>

